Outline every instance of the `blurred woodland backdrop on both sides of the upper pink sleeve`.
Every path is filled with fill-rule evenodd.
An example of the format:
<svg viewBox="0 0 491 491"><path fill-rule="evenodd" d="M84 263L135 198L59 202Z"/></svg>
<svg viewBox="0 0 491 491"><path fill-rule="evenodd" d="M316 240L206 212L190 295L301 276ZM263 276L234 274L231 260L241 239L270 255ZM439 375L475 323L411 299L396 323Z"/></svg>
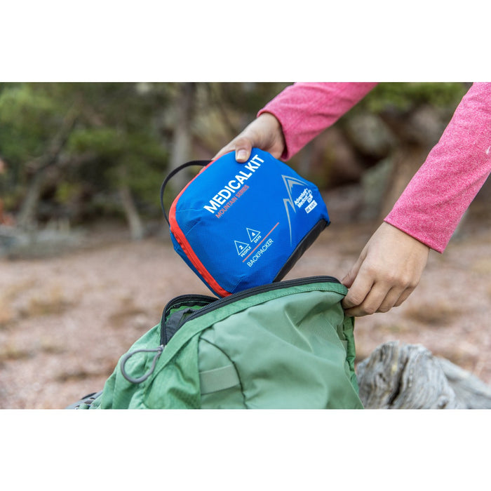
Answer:
<svg viewBox="0 0 491 491"><path fill-rule="evenodd" d="M140 238L145 219L161 218L159 187L168 170L210 159L288 85L0 83L4 208L23 227L51 217L81 222L124 216L131 236ZM390 203L467 87L380 83L289 163L306 177L313 178L314 170L318 185L329 187L360 180L367 168L389 158ZM184 180L172 183L175 191Z"/></svg>

